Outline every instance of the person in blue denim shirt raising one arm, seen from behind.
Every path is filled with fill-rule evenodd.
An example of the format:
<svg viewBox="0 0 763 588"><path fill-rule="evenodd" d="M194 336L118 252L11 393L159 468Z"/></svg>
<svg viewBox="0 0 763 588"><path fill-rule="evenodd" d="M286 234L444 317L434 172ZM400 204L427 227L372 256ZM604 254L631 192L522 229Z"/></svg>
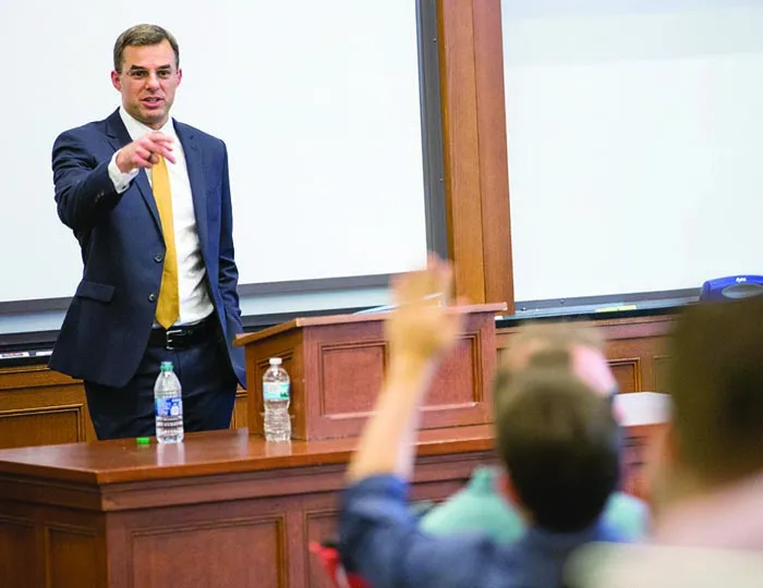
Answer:
<svg viewBox="0 0 763 588"><path fill-rule="evenodd" d="M519 370L498 403L507 491L530 520L522 540L509 547L487 537L433 537L407 504L417 411L438 359L460 333L458 310L432 296L447 293L450 279L449 266L433 259L426 271L396 282L387 377L341 501L342 563L374 588L562 586L576 549L622 539L601 517L619 479L620 429L608 399L570 369Z"/></svg>

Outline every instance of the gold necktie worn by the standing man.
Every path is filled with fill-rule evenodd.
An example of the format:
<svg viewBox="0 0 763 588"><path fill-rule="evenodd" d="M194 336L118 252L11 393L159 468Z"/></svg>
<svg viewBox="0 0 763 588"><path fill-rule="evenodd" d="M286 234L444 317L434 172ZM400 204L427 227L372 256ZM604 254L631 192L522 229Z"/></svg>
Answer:
<svg viewBox="0 0 763 588"><path fill-rule="evenodd" d="M165 234L165 269L161 272L159 301L156 304L156 321L169 329L180 316L180 294L178 292L178 252L174 248L174 226L172 223L172 193L170 174L165 158L152 168L152 188L159 209L161 232Z"/></svg>

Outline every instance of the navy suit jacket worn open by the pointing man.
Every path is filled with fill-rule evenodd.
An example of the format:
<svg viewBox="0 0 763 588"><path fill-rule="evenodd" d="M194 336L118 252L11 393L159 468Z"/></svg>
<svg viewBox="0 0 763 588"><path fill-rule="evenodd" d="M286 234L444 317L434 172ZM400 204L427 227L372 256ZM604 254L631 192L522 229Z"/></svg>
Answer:
<svg viewBox="0 0 763 588"><path fill-rule="evenodd" d="M233 258L232 209L225 143L173 121L183 146L209 296L231 367L244 385L242 331ZM74 378L122 387L135 375L154 324L165 242L144 170L118 194L108 166L132 139L114 111L66 131L53 144L58 215L80 242L84 272L50 357Z"/></svg>

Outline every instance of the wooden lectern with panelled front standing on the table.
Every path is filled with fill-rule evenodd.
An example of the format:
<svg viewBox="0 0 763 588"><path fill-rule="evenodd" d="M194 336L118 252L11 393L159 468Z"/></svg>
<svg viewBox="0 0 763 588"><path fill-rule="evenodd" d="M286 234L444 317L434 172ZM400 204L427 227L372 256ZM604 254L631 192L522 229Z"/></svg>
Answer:
<svg viewBox="0 0 763 588"><path fill-rule="evenodd" d="M461 308L460 342L443 365L427 395L422 429L491 421L496 363L496 314L505 304ZM387 365L387 315L361 314L298 318L241 335L246 353L247 420L263 434L263 375L270 357L280 357L291 377L292 438L355 437L374 406Z"/></svg>

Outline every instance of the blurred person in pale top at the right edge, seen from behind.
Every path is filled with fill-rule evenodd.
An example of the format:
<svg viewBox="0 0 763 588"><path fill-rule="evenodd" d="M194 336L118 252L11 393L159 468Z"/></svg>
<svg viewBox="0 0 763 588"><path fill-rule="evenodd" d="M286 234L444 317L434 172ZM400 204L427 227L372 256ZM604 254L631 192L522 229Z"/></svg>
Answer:
<svg viewBox="0 0 763 588"><path fill-rule="evenodd" d="M671 419L652 456L650 541L581 552L576 588L761 585L763 297L686 308L666 391Z"/></svg>

